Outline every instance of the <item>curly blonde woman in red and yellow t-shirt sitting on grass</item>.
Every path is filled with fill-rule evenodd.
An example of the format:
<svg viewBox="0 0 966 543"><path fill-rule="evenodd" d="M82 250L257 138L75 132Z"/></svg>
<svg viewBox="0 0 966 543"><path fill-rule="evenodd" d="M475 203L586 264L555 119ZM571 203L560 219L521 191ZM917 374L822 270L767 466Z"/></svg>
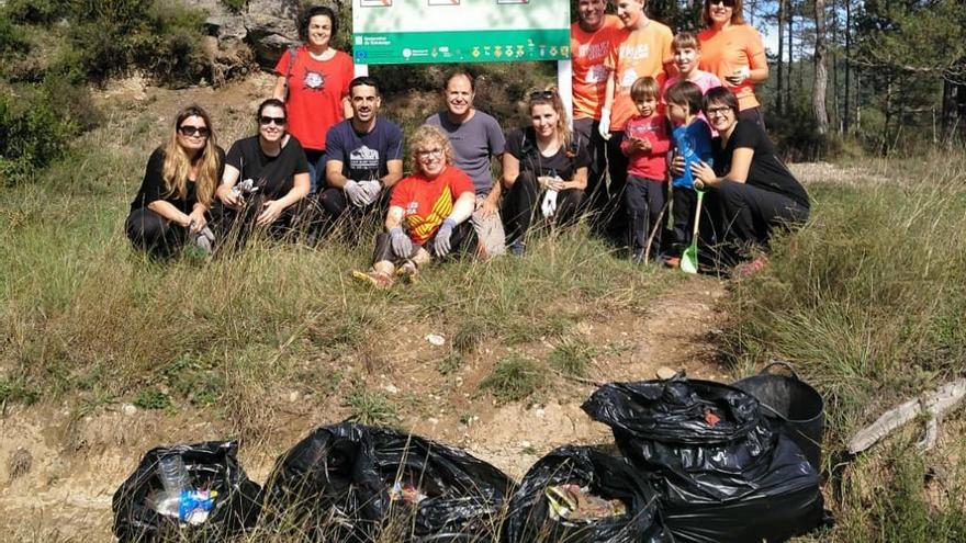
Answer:
<svg viewBox="0 0 966 543"><path fill-rule="evenodd" d="M379 289L392 286L397 273L412 279L433 257L472 253L476 241L468 220L476 206L473 181L452 166L449 139L436 126L423 125L409 148L415 173L393 186L372 268L352 272Z"/></svg>

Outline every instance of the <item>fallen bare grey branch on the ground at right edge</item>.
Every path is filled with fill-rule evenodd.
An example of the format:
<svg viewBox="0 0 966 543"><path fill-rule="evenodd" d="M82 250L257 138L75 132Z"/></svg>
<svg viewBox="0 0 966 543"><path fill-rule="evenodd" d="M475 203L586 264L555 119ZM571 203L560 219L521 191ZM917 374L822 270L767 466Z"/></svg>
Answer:
<svg viewBox="0 0 966 543"><path fill-rule="evenodd" d="M940 388L923 394L922 396L910 399L905 404L892 408L878 418L870 426L861 430L855 437L849 441L849 452L856 454L865 451L880 439L892 433L907 422L916 419L920 415L930 417L926 423L925 438L919 442L919 449L928 451L935 444L937 431L937 419L955 408L966 397L966 378L961 378L946 383Z"/></svg>

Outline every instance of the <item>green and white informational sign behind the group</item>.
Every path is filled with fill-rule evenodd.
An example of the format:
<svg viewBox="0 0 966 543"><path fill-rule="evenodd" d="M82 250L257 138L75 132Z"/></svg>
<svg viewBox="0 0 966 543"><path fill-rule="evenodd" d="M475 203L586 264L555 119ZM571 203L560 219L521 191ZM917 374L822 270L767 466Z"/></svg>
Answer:
<svg viewBox="0 0 966 543"><path fill-rule="evenodd" d="M569 0L353 0L357 64L570 58Z"/></svg>

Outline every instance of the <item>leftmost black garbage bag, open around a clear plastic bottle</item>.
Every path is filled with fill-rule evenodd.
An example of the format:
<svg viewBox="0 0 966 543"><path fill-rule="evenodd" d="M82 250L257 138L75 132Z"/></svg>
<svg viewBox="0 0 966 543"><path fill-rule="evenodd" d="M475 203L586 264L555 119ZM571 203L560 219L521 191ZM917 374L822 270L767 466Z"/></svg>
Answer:
<svg viewBox="0 0 966 543"><path fill-rule="evenodd" d="M121 543L155 541L222 541L258 520L261 487L248 479L237 460L238 442L207 441L151 449L114 493L114 535ZM161 491L158 462L178 455L194 489L217 491L207 519L196 525L158 513L151 497Z"/></svg>

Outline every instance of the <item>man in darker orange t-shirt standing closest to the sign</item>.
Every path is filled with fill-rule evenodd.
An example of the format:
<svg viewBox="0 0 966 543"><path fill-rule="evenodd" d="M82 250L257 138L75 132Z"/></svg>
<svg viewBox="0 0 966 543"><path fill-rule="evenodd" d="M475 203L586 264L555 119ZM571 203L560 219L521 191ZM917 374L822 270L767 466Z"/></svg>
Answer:
<svg viewBox="0 0 966 543"><path fill-rule="evenodd" d="M579 0L577 21L570 27L573 122L574 131L586 139L591 155L584 205L592 217L603 216L608 200L604 184L607 143L600 137L598 128L607 90L608 70L604 61L610 55L610 49L627 34L620 19L604 13L606 8L606 0Z"/></svg>

